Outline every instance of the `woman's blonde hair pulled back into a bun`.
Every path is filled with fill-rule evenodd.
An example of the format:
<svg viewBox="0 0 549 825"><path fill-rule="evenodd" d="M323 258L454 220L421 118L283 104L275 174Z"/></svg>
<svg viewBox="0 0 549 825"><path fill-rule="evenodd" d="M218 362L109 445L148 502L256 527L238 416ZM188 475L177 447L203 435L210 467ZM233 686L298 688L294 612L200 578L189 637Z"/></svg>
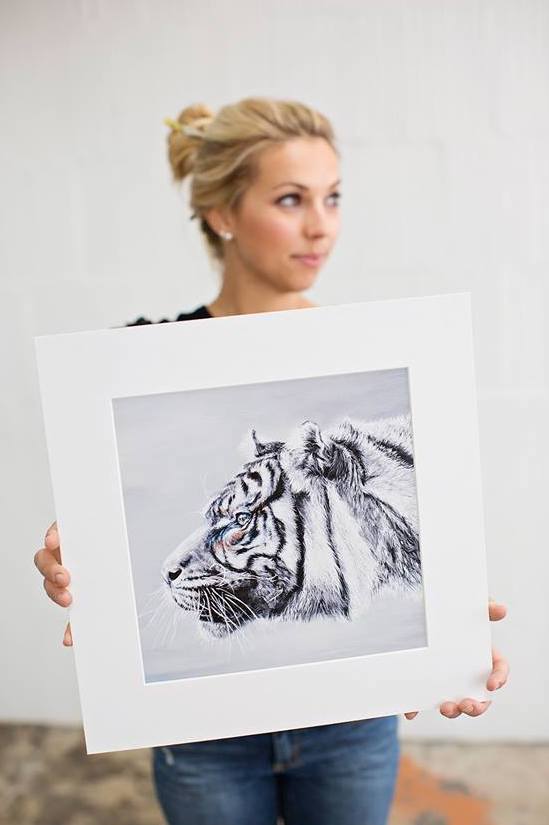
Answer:
<svg viewBox="0 0 549 825"><path fill-rule="evenodd" d="M202 104L166 118L168 158L173 179L192 175L192 218L200 218L210 257L223 260L223 243L204 213L213 207L237 207L257 174L259 154L269 146L298 137L324 138L334 152L335 135L320 112L293 100L248 97L223 106L216 115Z"/></svg>

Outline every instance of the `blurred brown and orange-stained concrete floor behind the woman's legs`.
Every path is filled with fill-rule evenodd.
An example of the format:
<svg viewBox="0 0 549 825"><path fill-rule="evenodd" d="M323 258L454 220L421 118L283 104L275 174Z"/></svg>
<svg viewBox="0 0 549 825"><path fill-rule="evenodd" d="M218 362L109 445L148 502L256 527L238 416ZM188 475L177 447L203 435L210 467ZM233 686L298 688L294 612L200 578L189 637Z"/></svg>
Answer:
<svg viewBox="0 0 549 825"><path fill-rule="evenodd" d="M549 744L403 745L390 825L548 823ZM0 825L165 825L150 751L87 756L80 728L0 725Z"/></svg>

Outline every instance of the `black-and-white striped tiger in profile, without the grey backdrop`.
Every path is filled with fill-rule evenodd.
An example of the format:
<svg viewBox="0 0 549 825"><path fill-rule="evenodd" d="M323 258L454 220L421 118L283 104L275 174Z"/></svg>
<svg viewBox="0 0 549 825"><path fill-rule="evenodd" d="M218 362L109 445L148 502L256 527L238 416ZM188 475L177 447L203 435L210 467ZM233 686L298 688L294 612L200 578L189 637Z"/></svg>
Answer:
<svg viewBox="0 0 549 825"><path fill-rule="evenodd" d="M171 553L162 578L199 627L353 620L380 588L421 584L411 418L304 421L261 443Z"/></svg>

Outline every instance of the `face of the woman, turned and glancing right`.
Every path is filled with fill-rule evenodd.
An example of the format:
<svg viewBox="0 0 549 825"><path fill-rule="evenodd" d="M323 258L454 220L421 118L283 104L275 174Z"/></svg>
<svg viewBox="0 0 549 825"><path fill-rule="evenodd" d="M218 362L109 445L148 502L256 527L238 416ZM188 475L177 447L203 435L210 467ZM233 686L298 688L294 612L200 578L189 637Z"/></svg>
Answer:
<svg viewBox="0 0 549 825"><path fill-rule="evenodd" d="M282 291L310 287L339 232L339 183L338 157L323 138L265 149L254 182L225 214L233 233L226 265L234 261Z"/></svg>

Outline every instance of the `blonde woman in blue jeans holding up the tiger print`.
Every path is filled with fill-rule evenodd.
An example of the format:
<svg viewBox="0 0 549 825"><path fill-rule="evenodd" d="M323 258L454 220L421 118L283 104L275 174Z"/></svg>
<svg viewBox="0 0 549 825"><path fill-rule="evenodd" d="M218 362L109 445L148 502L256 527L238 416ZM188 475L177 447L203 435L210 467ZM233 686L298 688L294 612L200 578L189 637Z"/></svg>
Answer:
<svg viewBox="0 0 549 825"><path fill-rule="evenodd" d="M222 272L215 300L176 320L314 306L303 293L340 228L339 156L327 119L297 102L249 98L215 117L190 106L168 123L174 178L192 175L193 217ZM55 523L35 563L50 598L68 606ZM489 614L503 618L505 608L491 603ZM72 644L70 625L64 644ZM507 672L494 653L488 689ZM465 699L440 712L478 716L489 704ZM398 753L391 716L154 748L153 766L171 825L274 825L277 816L286 825L383 825Z"/></svg>

